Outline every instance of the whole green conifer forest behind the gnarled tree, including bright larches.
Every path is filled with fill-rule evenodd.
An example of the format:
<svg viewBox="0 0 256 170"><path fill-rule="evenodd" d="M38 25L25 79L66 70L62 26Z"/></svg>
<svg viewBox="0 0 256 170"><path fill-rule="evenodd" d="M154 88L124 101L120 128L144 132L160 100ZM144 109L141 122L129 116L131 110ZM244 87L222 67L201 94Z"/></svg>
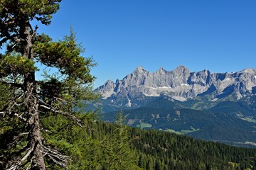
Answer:
<svg viewBox="0 0 256 170"><path fill-rule="evenodd" d="M122 124L121 115L116 123L91 118L81 117L86 128L61 115L43 118L44 142L69 155L69 169L256 169L255 149L130 128ZM3 123L1 127L0 169L4 169L6 160L14 156L15 149L4 146L15 129ZM46 167L64 169L51 159L46 159Z"/></svg>

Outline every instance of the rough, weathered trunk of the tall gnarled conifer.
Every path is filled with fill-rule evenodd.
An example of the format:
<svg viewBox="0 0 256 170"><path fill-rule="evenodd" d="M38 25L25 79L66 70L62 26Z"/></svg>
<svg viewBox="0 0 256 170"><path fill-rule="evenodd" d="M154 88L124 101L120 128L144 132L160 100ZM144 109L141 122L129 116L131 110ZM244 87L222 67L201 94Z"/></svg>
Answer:
<svg viewBox="0 0 256 170"><path fill-rule="evenodd" d="M32 35L29 23L23 30L25 37L23 57L33 60ZM40 130L40 120L38 111L38 97L36 95L35 72L30 72L24 77L24 89L26 91L25 105L28 111L28 141L31 149L31 169L46 170L43 159L42 136Z"/></svg>

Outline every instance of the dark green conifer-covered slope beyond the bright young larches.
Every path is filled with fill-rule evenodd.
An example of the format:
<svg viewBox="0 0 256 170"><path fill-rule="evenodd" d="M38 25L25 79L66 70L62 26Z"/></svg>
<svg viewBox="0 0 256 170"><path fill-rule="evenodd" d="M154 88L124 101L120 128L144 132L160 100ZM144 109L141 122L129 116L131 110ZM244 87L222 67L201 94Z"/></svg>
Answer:
<svg viewBox="0 0 256 170"><path fill-rule="evenodd" d="M127 127L128 128L128 127ZM96 130L97 129L97 130ZM93 137L114 137L114 125L97 122ZM255 169L256 149L195 140L159 130L128 128L142 169Z"/></svg>

